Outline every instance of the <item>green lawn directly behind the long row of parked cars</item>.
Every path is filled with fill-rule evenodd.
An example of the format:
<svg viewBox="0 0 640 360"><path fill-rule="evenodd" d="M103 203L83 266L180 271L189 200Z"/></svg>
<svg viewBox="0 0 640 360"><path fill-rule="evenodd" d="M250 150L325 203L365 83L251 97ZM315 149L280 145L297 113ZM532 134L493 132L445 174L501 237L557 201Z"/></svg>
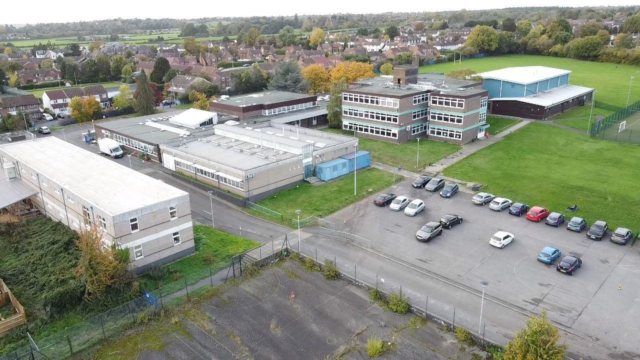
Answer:
<svg viewBox="0 0 640 360"><path fill-rule="evenodd" d="M535 149L544 149L543 152ZM638 231L640 147L531 123L444 172L496 196ZM564 211L577 204L580 210Z"/></svg>

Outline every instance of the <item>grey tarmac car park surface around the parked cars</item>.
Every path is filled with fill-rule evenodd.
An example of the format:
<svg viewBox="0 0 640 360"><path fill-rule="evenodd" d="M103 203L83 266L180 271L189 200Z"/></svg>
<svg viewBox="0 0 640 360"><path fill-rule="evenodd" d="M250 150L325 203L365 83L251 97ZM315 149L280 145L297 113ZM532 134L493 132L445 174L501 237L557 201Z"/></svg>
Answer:
<svg viewBox="0 0 640 360"><path fill-rule="evenodd" d="M339 231L371 241L372 249L378 252L392 254L463 286L477 289L480 281L488 281L490 293L500 300L538 314L547 309L549 318L572 329L598 329L608 343L620 342L637 327L630 316L640 316L637 293L618 291L619 284L640 288L637 249L590 240L584 233L569 231L564 224L553 227L507 211L492 211L472 203L474 194L465 192L463 186L458 195L444 199L438 193L413 188L412 181L397 184L394 192L424 200L426 208L415 217L362 200L326 220L334 222ZM464 222L444 229L429 243L416 240L415 234L423 225L447 214L456 214ZM504 249L489 245L488 240L497 231L514 234L517 241ZM563 256L581 259L584 267L573 277L563 276L555 271L558 260L553 265L538 261L540 250L547 246L561 249Z"/></svg>

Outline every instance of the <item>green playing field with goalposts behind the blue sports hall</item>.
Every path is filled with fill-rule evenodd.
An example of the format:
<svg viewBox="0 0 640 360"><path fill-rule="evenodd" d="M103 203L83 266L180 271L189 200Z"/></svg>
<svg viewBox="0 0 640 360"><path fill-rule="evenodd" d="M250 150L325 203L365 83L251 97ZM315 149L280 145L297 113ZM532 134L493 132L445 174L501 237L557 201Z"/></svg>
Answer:
<svg viewBox="0 0 640 360"><path fill-rule="evenodd" d="M503 67L543 65L557 67L559 69L572 70L570 83L573 85L595 88L596 107L594 116L609 115L616 107L624 107L627 102L629 80L636 76L632 84L630 102L640 99L640 67L633 65L620 65L614 63L600 63L593 61L575 60L568 58L556 58L554 56L539 55L504 55L488 56L463 60L455 69L470 68L477 72L501 69ZM453 63L438 63L420 67L420 72L449 72L454 69ZM571 111L557 115L554 120L559 124L585 130L589 121L589 106L579 106Z"/></svg>

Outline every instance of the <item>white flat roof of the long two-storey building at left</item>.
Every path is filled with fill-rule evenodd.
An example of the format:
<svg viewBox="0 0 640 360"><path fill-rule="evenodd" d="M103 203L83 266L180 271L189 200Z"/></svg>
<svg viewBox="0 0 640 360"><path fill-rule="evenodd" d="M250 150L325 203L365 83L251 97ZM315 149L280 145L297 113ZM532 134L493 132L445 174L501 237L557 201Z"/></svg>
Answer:
<svg viewBox="0 0 640 360"><path fill-rule="evenodd" d="M111 215L189 196L55 136L0 145L0 150Z"/></svg>

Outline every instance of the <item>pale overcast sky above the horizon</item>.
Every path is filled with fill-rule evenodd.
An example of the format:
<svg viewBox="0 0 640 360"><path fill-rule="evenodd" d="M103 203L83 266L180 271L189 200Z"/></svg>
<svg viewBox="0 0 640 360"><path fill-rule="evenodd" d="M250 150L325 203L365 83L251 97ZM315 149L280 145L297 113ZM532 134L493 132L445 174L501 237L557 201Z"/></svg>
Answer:
<svg viewBox="0 0 640 360"><path fill-rule="evenodd" d="M98 3L80 0L29 0L26 2L3 0L0 5L0 24L33 24L38 22L76 22L81 20L104 20L121 17L146 19L196 19L217 16L276 16L330 13L381 13L436 12L443 10L481 10L518 6L602 6L634 5L637 0L458 0L458 1L394 1L382 0L323 0L323 1L149 1L109 0Z"/></svg>

